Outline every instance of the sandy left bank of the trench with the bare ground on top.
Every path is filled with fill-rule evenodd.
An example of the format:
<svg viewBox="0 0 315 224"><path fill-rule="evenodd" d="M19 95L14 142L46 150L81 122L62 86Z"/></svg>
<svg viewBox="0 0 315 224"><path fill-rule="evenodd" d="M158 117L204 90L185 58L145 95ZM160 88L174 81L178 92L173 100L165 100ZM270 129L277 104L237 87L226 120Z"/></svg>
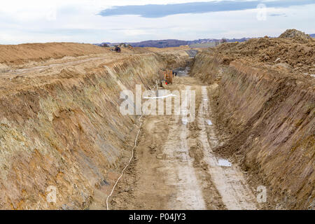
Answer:
<svg viewBox="0 0 315 224"><path fill-rule="evenodd" d="M53 45L40 45L52 48L43 50L50 59L33 52L22 61L1 64L1 209L89 207L97 190L116 181L137 134L136 118L120 113L121 87L147 89L160 68L181 66L188 59L181 48L172 53L123 49L118 54L74 43L55 44L56 54L67 48L74 52L55 57ZM4 51L0 57L11 60ZM55 202L48 200L52 189Z"/></svg>

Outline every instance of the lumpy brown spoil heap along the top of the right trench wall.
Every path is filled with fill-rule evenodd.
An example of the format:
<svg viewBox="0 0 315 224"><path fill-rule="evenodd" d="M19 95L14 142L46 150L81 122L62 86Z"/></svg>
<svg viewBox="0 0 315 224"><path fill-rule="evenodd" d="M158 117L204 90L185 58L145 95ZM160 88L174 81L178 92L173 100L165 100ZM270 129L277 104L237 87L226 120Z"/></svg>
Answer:
<svg viewBox="0 0 315 224"><path fill-rule="evenodd" d="M283 36L291 33L283 33ZM314 38L303 38L303 41L300 38L253 38L244 43L224 43L209 50L214 55L223 55L225 64L244 59L251 64L258 63L258 66L290 73L315 73Z"/></svg>

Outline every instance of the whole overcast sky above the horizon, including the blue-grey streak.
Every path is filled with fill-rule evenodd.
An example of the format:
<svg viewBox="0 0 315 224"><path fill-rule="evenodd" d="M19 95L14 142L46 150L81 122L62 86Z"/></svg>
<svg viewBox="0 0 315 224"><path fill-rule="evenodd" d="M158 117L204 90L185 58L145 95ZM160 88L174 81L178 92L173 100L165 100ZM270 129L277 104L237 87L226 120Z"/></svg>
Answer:
<svg viewBox="0 0 315 224"><path fill-rule="evenodd" d="M0 1L0 44L315 34L315 0Z"/></svg>

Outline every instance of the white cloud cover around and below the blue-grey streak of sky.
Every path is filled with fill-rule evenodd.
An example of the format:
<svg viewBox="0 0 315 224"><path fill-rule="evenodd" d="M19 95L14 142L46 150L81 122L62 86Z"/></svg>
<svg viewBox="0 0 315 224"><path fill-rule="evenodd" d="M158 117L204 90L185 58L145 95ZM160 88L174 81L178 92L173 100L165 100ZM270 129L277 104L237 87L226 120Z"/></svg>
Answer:
<svg viewBox="0 0 315 224"><path fill-rule="evenodd" d="M267 8L267 20L258 21L257 10L141 18L135 15L102 17L104 8L147 3L186 3L204 0L55 0L0 1L0 44L73 41L144 41L179 38L240 38L278 36L289 28L315 33L315 4ZM271 13L283 16L269 16Z"/></svg>

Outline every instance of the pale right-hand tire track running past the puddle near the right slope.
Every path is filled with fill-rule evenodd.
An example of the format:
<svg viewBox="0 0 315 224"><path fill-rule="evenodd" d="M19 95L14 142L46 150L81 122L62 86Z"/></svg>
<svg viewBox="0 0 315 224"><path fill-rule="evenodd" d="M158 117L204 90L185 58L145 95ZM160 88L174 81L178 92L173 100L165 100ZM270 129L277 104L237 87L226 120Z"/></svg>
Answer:
<svg viewBox="0 0 315 224"><path fill-rule="evenodd" d="M208 134L206 130L206 116L211 114L211 108L208 107L207 86L202 86L202 102L198 112L198 126L200 127L199 139L202 142L204 150L204 160L207 162L209 174L214 182L216 189L220 193L223 203L227 209L257 209L255 204L255 196L246 184L244 174L239 170L237 165L221 167L214 155L209 144ZM218 144L213 126L209 128L211 141Z"/></svg>

